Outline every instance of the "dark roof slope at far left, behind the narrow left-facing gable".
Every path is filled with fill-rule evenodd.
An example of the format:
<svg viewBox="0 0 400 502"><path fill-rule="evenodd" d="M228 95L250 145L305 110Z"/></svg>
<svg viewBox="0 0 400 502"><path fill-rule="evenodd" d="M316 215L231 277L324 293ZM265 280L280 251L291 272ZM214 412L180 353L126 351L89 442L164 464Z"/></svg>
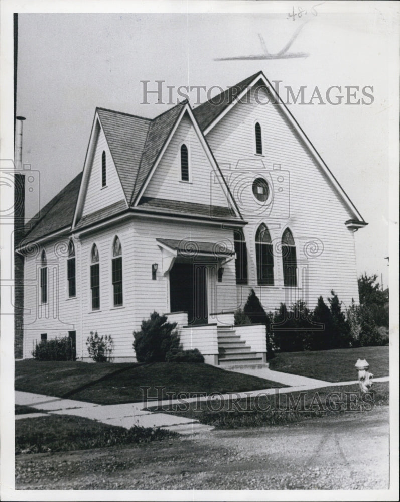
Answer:
<svg viewBox="0 0 400 502"><path fill-rule="evenodd" d="M25 239L43 237L72 225L81 178L82 173L75 176L25 225Z"/></svg>

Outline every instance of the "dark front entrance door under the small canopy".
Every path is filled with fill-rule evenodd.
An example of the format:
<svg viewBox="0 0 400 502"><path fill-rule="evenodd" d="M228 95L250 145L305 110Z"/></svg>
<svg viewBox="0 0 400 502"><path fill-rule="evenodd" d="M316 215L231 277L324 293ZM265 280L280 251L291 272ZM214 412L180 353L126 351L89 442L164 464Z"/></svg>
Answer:
<svg viewBox="0 0 400 502"><path fill-rule="evenodd" d="M189 324L207 324L207 267L175 263L170 271L171 312L188 313Z"/></svg>

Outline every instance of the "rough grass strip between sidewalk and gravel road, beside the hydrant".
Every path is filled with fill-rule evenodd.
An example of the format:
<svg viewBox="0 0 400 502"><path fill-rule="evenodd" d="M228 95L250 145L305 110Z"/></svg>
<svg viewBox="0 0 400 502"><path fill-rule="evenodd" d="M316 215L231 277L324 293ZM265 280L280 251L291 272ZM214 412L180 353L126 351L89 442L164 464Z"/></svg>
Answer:
<svg viewBox="0 0 400 502"><path fill-rule="evenodd" d="M149 410L199 420L221 429L280 425L343 413L368 413L375 406L389 404L389 383L376 382L371 396L360 393L358 385L333 386L276 396L226 401L197 401Z"/></svg>

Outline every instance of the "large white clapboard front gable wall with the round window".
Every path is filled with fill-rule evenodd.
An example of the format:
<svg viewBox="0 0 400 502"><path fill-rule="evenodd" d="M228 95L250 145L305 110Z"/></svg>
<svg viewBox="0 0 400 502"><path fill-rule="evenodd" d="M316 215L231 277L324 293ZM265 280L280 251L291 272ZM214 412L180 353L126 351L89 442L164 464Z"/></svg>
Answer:
<svg viewBox="0 0 400 502"><path fill-rule="evenodd" d="M262 130L263 156L254 153L256 121ZM277 245L283 230L289 226L295 238L298 262L307 266L309 272L308 288L300 282L302 290L296 295L301 297L301 292L305 295L307 291L311 307L319 295L326 299L332 289L344 306L348 306L352 298L358 302L354 235L344 224L354 216L278 106L255 103L252 92L249 102L236 104L216 124L208 133L207 141L236 195L244 219L249 222L244 228L249 288L257 287L254 238L258 225L268 226ZM272 186L271 204L269 201L259 204L252 196L252 181L259 175ZM279 192L278 188L283 190ZM268 309L278 307L288 293L288 288L283 287L279 248L274 275L275 287L258 287L263 305ZM238 287L239 303L243 291L249 288Z"/></svg>

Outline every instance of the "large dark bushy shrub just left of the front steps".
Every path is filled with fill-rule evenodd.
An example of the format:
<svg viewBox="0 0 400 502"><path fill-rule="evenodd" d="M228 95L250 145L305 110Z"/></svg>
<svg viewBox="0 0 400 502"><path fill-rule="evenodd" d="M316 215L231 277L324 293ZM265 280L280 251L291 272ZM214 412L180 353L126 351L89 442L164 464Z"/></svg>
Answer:
<svg viewBox="0 0 400 502"><path fill-rule="evenodd" d="M165 362L167 352L179 349L176 322L167 322L167 316L157 312L143 320L140 331L134 331L133 343L138 362Z"/></svg>

